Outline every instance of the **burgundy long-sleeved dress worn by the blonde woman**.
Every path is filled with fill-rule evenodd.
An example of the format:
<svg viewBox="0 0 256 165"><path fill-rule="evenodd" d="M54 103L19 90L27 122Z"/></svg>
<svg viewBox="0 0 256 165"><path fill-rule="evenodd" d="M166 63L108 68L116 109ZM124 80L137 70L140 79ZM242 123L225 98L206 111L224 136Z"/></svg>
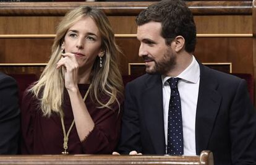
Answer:
<svg viewBox="0 0 256 165"><path fill-rule="evenodd" d="M79 91L85 95L89 85L80 85ZM105 100L108 98L105 97ZM119 100L122 103L122 100ZM95 127L87 138L80 142L75 124L69 134L67 151L69 154L111 154L118 142L121 128L121 113L114 103L108 108L96 108L88 95L85 100L88 112ZM74 119L69 95L64 90L64 125L66 132ZM38 99L31 93L25 93L22 100L22 154L61 154L63 149L63 131L58 114L44 117Z"/></svg>

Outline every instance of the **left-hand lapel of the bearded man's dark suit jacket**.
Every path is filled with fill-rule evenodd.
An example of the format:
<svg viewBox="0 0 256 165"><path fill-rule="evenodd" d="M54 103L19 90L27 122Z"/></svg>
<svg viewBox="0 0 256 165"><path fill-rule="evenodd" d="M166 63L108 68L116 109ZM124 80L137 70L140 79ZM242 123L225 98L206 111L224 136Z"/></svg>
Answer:
<svg viewBox="0 0 256 165"><path fill-rule="evenodd" d="M155 154L165 153L163 122L163 89L161 75L151 75L143 91L143 112Z"/></svg>

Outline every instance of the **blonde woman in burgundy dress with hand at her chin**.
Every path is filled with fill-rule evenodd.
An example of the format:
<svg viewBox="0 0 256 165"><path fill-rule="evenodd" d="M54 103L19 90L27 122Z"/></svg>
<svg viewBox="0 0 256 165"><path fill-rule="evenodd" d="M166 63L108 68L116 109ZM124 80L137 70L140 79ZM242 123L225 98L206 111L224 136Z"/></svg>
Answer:
<svg viewBox="0 0 256 165"><path fill-rule="evenodd" d="M123 98L118 53L103 12L82 6L64 17L48 65L23 96L23 154L114 150Z"/></svg>

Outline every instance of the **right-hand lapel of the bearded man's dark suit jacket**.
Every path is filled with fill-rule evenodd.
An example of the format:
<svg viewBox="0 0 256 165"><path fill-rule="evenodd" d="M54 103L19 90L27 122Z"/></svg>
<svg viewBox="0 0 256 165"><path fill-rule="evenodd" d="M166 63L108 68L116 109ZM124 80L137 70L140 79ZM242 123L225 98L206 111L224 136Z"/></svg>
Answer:
<svg viewBox="0 0 256 165"><path fill-rule="evenodd" d="M195 142L197 154L206 150L220 108L221 95L216 91L218 83L211 78L211 70L200 64L200 85L195 119Z"/></svg>

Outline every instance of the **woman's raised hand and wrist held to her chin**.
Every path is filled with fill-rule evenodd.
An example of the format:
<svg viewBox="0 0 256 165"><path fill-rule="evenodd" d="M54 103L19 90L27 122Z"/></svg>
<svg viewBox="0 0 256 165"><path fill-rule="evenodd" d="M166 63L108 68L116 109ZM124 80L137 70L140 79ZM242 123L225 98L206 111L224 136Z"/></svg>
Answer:
<svg viewBox="0 0 256 165"><path fill-rule="evenodd" d="M57 62L56 69L64 67L64 79L65 87L67 90L75 91L78 90L78 70L79 64L73 53L63 53L59 62Z"/></svg>

